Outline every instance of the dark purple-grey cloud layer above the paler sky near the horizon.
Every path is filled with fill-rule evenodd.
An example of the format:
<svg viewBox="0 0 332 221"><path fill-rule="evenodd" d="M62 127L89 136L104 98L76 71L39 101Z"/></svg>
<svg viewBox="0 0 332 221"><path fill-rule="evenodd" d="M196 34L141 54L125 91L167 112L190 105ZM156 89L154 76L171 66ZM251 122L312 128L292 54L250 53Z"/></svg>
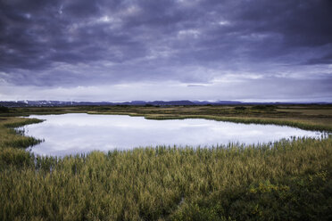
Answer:
<svg viewBox="0 0 332 221"><path fill-rule="evenodd" d="M0 1L0 80L17 86L305 80L331 50L329 0Z"/></svg>

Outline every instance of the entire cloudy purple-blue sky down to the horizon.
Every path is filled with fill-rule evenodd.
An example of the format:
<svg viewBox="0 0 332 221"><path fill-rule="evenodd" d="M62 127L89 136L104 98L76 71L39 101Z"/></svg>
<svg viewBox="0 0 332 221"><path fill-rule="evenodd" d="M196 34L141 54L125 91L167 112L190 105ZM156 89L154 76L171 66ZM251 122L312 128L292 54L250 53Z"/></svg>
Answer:
<svg viewBox="0 0 332 221"><path fill-rule="evenodd" d="M0 100L332 102L332 1L0 0Z"/></svg>

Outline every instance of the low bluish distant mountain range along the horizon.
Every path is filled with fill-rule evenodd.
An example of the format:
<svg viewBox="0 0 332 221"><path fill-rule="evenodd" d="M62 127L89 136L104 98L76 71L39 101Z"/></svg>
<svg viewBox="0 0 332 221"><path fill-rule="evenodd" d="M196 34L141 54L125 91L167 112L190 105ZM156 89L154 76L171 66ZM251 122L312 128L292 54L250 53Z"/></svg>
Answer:
<svg viewBox="0 0 332 221"><path fill-rule="evenodd" d="M132 105L132 106L190 106L190 105L273 105L273 104L331 104L331 102L234 102L234 101L217 101L217 102L200 102L200 101L132 101L132 102L61 102L61 101L17 101L17 102L0 102L5 107L61 107L61 106L105 106L105 105Z"/></svg>

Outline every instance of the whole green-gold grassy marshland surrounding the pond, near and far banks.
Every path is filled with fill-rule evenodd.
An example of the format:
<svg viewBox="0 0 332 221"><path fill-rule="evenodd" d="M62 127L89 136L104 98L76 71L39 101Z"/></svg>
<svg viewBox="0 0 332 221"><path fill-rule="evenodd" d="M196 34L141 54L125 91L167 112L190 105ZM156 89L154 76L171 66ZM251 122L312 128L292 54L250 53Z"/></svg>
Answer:
<svg viewBox="0 0 332 221"><path fill-rule="evenodd" d="M40 141L12 127L40 120L11 116L64 112L332 127L331 106L315 105L12 109L0 117L1 220L332 219L331 137L272 147L94 151L63 159L25 151Z"/></svg>

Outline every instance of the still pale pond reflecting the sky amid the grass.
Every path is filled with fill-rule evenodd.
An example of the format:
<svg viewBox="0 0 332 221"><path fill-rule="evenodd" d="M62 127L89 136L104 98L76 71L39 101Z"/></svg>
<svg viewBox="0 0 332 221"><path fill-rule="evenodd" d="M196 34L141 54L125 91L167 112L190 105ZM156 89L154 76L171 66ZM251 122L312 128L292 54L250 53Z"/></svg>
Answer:
<svg viewBox="0 0 332 221"><path fill-rule="evenodd" d="M295 127L237 124L208 119L152 120L125 115L31 115L46 121L23 127L25 135L44 139L32 147L39 155L64 156L94 150L129 150L156 145L212 146L269 143L291 136L320 137Z"/></svg>

